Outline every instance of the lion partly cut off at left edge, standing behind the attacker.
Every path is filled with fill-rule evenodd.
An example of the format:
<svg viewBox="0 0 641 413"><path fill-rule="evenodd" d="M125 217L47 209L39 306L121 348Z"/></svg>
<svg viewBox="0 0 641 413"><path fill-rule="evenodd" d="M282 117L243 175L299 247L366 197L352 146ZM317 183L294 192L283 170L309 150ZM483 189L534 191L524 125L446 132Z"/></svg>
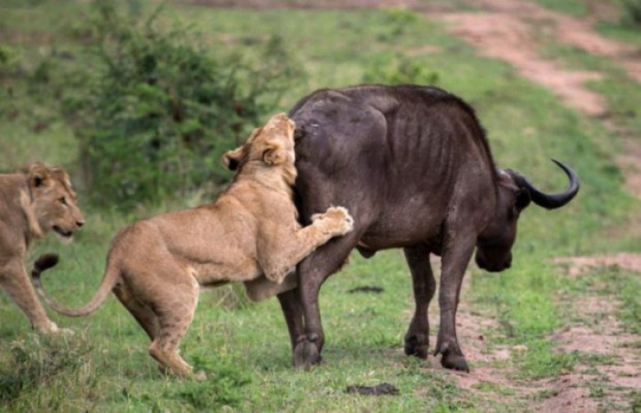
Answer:
<svg viewBox="0 0 641 413"><path fill-rule="evenodd" d="M17 174L0 174L0 286L40 333L61 329L37 300L24 261L35 239L53 231L67 243L85 224L69 174L33 164Z"/></svg>

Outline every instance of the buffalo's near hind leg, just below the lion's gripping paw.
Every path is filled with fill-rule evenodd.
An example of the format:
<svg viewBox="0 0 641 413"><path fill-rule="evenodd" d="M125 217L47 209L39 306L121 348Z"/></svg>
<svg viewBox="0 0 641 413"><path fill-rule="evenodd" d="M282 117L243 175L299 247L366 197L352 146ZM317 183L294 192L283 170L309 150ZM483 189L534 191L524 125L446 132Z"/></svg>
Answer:
<svg viewBox="0 0 641 413"><path fill-rule="evenodd" d="M319 291L331 273L337 271L350 254L360 235L350 232L317 249L298 265L298 293L304 314L304 336L296 339L294 367L310 368L321 361L325 343L319 310Z"/></svg>

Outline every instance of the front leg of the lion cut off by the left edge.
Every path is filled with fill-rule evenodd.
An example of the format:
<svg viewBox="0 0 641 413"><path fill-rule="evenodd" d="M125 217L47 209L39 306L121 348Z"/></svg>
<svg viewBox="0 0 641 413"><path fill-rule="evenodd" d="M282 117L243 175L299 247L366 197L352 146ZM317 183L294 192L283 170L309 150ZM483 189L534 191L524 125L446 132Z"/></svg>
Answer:
<svg viewBox="0 0 641 413"><path fill-rule="evenodd" d="M10 263L0 270L0 286L11 296L13 302L20 307L38 332L45 334L61 332L61 329L47 317L22 263Z"/></svg>

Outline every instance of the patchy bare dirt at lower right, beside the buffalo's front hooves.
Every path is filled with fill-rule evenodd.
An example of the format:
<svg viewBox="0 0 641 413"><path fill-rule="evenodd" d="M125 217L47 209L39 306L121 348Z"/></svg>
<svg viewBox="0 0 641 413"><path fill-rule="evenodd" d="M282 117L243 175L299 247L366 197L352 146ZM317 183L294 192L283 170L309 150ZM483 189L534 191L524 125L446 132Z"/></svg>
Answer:
<svg viewBox="0 0 641 413"><path fill-rule="evenodd" d="M641 391L641 357L633 350L639 336L626 333L614 317L620 305L611 296L581 296L573 302L572 323L548 336L556 343L556 351L577 352L585 360L600 360L596 361L596 367L580 362L560 377L519 380L515 378L518 371L509 360L516 352L529 349L523 345L490 344L484 334L498 329L496 322L475 314L464 301L458 310L457 333L472 370L470 374L449 373L467 392L499 405L505 402L508 411L631 411L631 395ZM434 314L437 313L434 308ZM431 340L434 343L436 337ZM436 360L433 366L440 368ZM493 391L484 390L488 388ZM491 410L490 406L485 408Z"/></svg>

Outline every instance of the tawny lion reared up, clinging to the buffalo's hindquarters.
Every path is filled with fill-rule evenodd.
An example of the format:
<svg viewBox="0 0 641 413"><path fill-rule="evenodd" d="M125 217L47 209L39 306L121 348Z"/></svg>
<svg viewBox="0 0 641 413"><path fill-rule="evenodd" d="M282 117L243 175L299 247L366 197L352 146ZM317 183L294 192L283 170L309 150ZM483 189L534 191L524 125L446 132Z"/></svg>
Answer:
<svg viewBox="0 0 641 413"><path fill-rule="evenodd" d="M267 293L250 297L278 294L296 287L296 264L305 256L352 231L353 218L343 207L329 207L304 228L298 223L294 129L285 114L274 115L244 145L227 152L223 163L236 174L214 203L157 215L120 231L101 286L81 309L62 307L40 283L40 272L57 262L55 255L44 255L34 267L38 293L56 312L80 317L113 291L150 337L149 352L158 367L179 377L193 375L178 348L201 287L240 281L248 293L268 286Z"/></svg>

